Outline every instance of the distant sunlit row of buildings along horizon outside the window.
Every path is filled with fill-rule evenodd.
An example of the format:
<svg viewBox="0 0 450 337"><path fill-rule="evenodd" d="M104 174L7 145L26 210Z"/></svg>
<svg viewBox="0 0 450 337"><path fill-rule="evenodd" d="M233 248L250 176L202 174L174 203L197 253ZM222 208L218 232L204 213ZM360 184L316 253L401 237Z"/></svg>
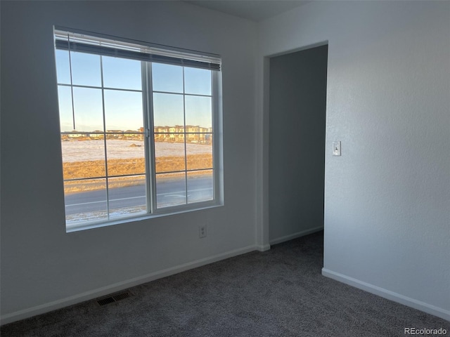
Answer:
<svg viewBox="0 0 450 337"><path fill-rule="evenodd" d="M202 126L176 125L176 126L155 126L153 128L155 142L172 143L212 143L212 128L203 128ZM101 130L96 131L64 131L61 132L61 140L143 140L145 136L144 128L138 130Z"/></svg>

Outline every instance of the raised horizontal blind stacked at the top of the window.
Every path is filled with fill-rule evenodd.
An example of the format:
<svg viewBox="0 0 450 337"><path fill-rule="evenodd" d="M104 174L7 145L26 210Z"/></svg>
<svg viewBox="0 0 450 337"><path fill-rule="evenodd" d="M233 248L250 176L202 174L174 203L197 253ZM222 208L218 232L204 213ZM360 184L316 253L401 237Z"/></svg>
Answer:
<svg viewBox="0 0 450 337"><path fill-rule="evenodd" d="M128 58L131 60L183 65L208 70L220 70L219 57L183 53L162 48L152 48L129 42L115 41L85 34L55 31L55 48L79 53Z"/></svg>

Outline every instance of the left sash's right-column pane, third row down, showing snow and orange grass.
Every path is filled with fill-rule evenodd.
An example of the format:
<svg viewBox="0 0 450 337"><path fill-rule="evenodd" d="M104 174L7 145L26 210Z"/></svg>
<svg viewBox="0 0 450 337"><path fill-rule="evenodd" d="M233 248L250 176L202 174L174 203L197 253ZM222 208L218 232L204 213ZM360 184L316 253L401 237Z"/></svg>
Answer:
<svg viewBox="0 0 450 337"><path fill-rule="evenodd" d="M110 136L110 135L108 135ZM141 140L106 140L108 176L145 174L145 146Z"/></svg>

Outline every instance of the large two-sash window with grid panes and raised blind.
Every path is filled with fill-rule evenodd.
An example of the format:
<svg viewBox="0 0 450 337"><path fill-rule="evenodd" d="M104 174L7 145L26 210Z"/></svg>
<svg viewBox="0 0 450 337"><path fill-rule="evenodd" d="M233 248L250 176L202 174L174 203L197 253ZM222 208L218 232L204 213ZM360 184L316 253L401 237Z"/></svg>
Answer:
<svg viewBox="0 0 450 337"><path fill-rule="evenodd" d="M221 204L220 59L55 30L67 230Z"/></svg>

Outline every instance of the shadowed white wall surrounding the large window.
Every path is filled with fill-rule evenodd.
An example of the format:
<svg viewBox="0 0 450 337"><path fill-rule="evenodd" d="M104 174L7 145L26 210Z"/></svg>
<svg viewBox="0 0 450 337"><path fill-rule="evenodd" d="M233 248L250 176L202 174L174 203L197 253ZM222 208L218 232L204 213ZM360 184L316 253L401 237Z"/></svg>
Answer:
<svg viewBox="0 0 450 337"><path fill-rule="evenodd" d="M53 25L222 55L225 206L65 232ZM1 2L2 323L255 249L256 40L176 1Z"/></svg>

